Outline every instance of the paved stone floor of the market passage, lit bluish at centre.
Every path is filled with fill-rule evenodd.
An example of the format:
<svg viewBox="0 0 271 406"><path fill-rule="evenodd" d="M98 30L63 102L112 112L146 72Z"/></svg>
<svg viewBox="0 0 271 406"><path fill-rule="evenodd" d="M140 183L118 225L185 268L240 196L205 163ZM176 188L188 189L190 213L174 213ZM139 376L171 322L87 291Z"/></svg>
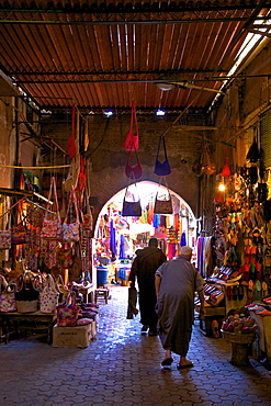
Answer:
<svg viewBox="0 0 271 406"><path fill-rule="evenodd" d="M126 319L127 287L112 286L100 302L97 340L86 349L53 348L42 337L0 345L0 405L264 405L271 371L229 363L230 345L203 336L195 323L189 351L194 366L161 369L158 337L140 334L139 316Z"/></svg>

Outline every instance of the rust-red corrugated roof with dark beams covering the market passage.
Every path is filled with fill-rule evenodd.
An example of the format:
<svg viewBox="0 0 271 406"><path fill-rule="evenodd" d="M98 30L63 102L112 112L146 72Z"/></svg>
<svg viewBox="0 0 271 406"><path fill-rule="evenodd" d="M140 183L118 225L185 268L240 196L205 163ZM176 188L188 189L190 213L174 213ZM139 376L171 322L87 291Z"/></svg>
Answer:
<svg viewBox="0 0 271 406"><path fill-rule="evenodd" d="M0 0L0 69L45 111L206 110L270 4Z"/></svg>

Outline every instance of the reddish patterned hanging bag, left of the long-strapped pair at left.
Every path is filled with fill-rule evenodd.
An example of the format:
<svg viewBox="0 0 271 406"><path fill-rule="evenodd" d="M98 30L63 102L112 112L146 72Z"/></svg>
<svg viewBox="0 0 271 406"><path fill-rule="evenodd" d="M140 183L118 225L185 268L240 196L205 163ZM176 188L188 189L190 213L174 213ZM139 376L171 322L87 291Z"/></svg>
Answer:
<svg viewBox="0 0 271 406"><path fill-rule="evenodd" d="M55 203L56 203L56 213L53 219L48 218L48 206L49 201L52 199L52 194L54 193ZM46 205L46 211L44 215L43 226L41 230L41 238L50 240L50 239L61 239L61 219L58 208L58 200L57 200L57 192L56 192L56 181L55 178L52 178L50 187L49 187L49 194L48 194L48 203Z"/></svg>

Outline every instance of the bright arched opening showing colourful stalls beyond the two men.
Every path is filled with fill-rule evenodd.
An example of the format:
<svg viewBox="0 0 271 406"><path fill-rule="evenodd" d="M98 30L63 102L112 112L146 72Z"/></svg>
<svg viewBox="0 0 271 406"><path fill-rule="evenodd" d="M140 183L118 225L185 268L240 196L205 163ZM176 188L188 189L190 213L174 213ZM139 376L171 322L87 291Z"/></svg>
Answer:
<svg viewBox="0 0 271 406"><path fill-rule="evenodd" d="M172 213L154 213L156 199L169 200L169 196ZM124 198L127 201L140 202L140 217L122 215ZM195 248L195 216L189 204L167 187L149 181L131 183L113 195L99 214L94 229L95 264L108 267L110 281L125 281L125 272L121 278L117 272L121 268L128 270L136 249L147 246L153 236L158 239L159 247L168 259L172 259L179 255L181 245Z"/></svg>

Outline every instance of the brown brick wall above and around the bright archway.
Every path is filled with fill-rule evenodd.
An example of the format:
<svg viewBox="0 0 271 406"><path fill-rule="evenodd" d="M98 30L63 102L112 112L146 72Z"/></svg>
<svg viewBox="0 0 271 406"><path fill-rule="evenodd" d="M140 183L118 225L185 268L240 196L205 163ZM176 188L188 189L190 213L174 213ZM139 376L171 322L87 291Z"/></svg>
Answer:
<svg viewBox="0 0 271 406"><path fill-rule="evenodd" d="M142 180L159 182L154 173L159 137L174 121L176 116L155 117L138 115L139 149L138 157L143 167ZM124 150L124 140L129 127L129 115L112 116L91 115L89 121L88 180L91 201L99 214L102 206L120 190L128 184L125 165L128 151ZM70 123L63 117L49 117L43 125L43 135L52 136L66 149ZM193 135L196 135L194 137ZM192 172L192 163L202 148L202 134L169 131L166 135L168 159L172 173L167 177L168 187L178 193L196 213L199 178ZM163 160L163 156L159 157ZM61 161L61 154L57 162ZM131 163L136 163L135 155Z"/></svg>

